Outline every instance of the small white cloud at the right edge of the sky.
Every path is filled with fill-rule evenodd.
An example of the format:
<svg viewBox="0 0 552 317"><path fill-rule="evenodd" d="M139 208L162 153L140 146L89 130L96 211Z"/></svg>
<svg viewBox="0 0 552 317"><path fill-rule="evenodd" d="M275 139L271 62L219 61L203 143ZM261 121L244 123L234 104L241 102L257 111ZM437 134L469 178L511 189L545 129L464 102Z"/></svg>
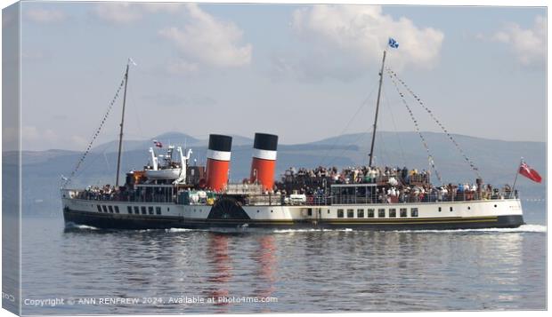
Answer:
<svg viewBox="0 0 552 317"><path fill-rule="evenodd" d="M524 29L515 23L510 23L495 33L492 40L509 44L524 65L544 63L547 48L546 26L546 18L539 15L535 18L532 28Z"/></svg>

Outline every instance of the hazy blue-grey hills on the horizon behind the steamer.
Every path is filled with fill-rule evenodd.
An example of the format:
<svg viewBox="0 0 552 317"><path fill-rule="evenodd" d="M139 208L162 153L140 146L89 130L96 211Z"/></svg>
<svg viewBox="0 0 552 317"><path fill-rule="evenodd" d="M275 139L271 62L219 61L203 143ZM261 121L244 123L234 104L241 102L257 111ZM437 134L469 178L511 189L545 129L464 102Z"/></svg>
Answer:
<svg viewBox="0 0 552 317"><path fill-rule="evenodd" d="M442 133L424 132L437 170L446 183L474 182L475 172ZM544 142L513 142L480 139L453 135L464 153L479 169L486 183L503 185L512 183L520 157L524 156L533 168L540 171L543 184L535 184L526 178L518 178L516 187L524 198L544 198L546 182L546 144ZM163 143L186 145L193 149L192 158L205 164L207 139L195 139L189 135L170 132L151 139ZM142 169L148 162L151 139L126 141L122 170ZM278 147L277 178L289 167L313 168L319 165L346 166L368 163L370 133L347 134L299 145L280 144ZM86 157L82 168L73 178L76 187L113 184L117 168L117 141L94 147ZM234 137L231 155L231 181L247 178L251 163L253 139ZM65 150L23 151L21 153L23 207L28 214L60 214L61 202L58 188L61 175L68 176L81 153ZM4 163L17 162L13 152L3 153ZM426 149L415 132L378 132L376 135L375 162L377 165L407 166L428 169ZM434 183L437 181L433 179Z"/></svg>

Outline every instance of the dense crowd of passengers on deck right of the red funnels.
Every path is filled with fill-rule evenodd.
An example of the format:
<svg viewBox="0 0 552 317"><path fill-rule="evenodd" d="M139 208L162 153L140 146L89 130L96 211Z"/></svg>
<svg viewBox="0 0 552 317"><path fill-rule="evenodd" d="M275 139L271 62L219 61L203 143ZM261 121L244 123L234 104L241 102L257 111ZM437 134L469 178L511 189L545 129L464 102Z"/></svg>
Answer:
<svg viewBox="0 0 552 317"><path fill-rule="evenodd" d="M430 184L429 171L409 170L406 167L348 167L337 170L337 167L315 169L291 167L286 171L280 186L281 194L293 190L297 194L305 194L309 202L320 202L332 199L338 200L368 200L367 203L394 203L394 202L450 202L470 201L481 199L499 199L509 197L510 186L501 190L491 185L458 184L433 186ZM329 182L324 183L329 180ZM366 184L377 183L379 186L371 189L374 193L326 193L330 184ZM477 181L476 181L477 183ZM370 190L370 189L369 189ZM331 196L331 197L328 197ZM358 198L358 199L357 199Z"/></svg>

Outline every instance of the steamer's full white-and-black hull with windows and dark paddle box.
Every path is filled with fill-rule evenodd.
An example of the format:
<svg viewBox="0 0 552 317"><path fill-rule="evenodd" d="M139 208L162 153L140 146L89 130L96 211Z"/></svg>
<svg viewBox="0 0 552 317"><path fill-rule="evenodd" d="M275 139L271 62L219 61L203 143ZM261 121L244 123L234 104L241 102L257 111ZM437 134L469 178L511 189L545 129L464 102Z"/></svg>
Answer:
<svg viewBox="0 0 552 317"><path fill-rule="evenodd" d="M243 206L231 197L214 205L63 199L66 222L102 228L313 227L376 230L513 227L524 224L521 202Z"/></svg>

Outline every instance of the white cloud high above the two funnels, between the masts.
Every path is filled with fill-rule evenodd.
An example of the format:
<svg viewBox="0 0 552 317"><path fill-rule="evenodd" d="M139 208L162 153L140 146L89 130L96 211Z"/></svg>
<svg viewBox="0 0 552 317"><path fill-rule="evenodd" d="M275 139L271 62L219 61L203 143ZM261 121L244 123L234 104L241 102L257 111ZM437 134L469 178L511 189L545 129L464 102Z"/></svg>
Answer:
<svg viewBox="0 0 552 317"><path fill-rule="evenodd" d="M217 20L197 4L186 4L185 8L183 28L164 28L159 31L159 36L175 44L188 67L197 64L241 67L251 62L252 47L251 44L240 44L241 29L231 22Z"/></svg>

